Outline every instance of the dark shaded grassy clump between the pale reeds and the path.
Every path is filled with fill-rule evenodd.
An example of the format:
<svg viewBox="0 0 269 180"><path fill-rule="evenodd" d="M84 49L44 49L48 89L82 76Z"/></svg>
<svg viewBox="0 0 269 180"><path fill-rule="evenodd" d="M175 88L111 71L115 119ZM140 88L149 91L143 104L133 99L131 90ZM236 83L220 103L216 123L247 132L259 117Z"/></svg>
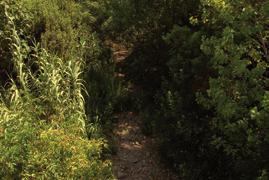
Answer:
<svg viewBox="0 0 269 180"><path fill-rule="evenodd" d="M85 70L88 93L86 110L93 122L99 125L111 125L121 85L115 74L115 64L109 55L110 50L104 48L102 54L108 56L106 58L101 56L90 62Z"/></svg>

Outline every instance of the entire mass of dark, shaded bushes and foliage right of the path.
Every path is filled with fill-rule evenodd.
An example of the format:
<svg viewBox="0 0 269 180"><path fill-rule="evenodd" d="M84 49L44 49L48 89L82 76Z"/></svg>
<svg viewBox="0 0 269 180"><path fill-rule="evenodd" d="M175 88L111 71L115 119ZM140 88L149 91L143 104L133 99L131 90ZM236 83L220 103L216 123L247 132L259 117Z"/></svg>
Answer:
<svg viewBox="0 0 269 180"><path fill-rule="evenodd" d="M186 179L267 179L268 2L113 2L162 157Z"/></svg>

